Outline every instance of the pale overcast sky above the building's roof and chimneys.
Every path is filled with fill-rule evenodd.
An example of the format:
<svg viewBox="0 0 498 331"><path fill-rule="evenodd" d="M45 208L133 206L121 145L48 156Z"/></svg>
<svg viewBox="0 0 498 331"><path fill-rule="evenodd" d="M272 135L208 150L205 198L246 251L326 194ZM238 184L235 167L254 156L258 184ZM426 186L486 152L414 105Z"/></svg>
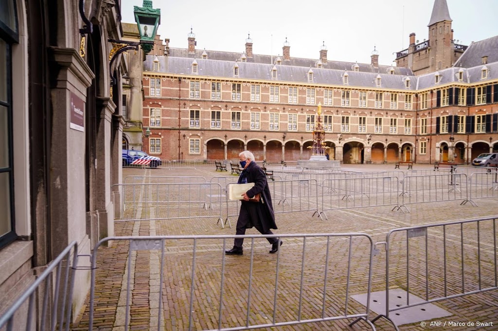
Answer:
<svg viewBox="0 0 498 331"><path fill-rule="evenodd" d="M122 0L122 21L134 23L133 6ZM498 0L447 0L454 38L469 45L498 35ZM161 9L161 39L187 48L193 28L197 49L245 51L248 33L254 54L282 55L287 37L290 56L318 59L325 41L328 60L370 63L375 45L379 64L392 65L394 52L408 48L409 34L422 42L434 0L153 0Z"/></svg>

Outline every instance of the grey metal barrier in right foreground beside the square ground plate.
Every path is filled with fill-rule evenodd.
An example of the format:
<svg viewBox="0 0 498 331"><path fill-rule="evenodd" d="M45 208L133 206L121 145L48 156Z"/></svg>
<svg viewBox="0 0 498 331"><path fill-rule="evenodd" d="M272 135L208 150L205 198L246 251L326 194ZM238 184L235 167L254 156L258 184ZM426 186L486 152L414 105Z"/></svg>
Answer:
<svg viewBox="0 0 498 331"><path fill-rule="evenodd" d="M385 315L372 322L384 318L399 330L390 313L498 289L497 236L496 216L389 231L385 242L375 244L386 251ZM406 291L405 305L389 306L394 285Z"/></svg>

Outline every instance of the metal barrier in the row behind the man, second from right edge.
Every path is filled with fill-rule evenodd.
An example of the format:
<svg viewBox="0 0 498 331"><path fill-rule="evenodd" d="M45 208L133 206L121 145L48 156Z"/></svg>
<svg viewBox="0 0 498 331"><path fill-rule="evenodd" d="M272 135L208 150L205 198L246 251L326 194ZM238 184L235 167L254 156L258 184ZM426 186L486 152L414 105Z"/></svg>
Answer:
<svg viewBox="0 0 498 331"><path fill-rule="evenodd" d="M432 174L407 176L403 179L401 205L392 210L404 209L407 204L463 200L461 205L471 202L468 199L468 182L465 174ZM471 202L472 203L472 202Z"/></svg>

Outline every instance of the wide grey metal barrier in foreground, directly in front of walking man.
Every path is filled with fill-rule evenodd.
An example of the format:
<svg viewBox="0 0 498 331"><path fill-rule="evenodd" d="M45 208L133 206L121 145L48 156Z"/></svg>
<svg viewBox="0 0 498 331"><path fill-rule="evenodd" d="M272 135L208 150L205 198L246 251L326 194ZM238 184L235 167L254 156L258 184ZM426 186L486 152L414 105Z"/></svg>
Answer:
<svg viewBox="0 0 498 331"><path fill-rule="evenodd" d="M277 237L285 244L271 256L271 267L268 263L261 267L255 261L261 258L261 252L267 256L266 238ZM245 253L249 257L236 257L235 262L226 256L225 250L231 248L234 238L246 239ZM363 320L375 330L369 320L369 304L361 306L350 298L354 292L366 290L370 299L373 241L363 233L103 239L92 256L89 330L94 328L95 312L102 308L95 294L100 273L98 248L108 241L124 241L118 246L128 247L119 297L122 304L118 307L121 320L115 322L124 330L133 322L135 296L140 309L144 308L143 299L149 299L150 316L154 316L149 326L156 330L172 330L170 318L162 315L169 312L176 316L175 328L182 330L252 330L345 319ZM283 252L287 249L297 254L286 256ZM338 249L347 252L347 260L335 253ZM156 286L137 285L135 264L143 260L142 256L150 261L149 273L158 281ZM353 260L363 267L352 267ZM138 271L142 277L143 267ZM270 297L261 296L262 285L273 292ZM338 288L342 290L336 291ZM108 306L107 301L102 304ZM169 307L163 308L163 304ZM234 314L241 319L233 319Z"/></svg>

